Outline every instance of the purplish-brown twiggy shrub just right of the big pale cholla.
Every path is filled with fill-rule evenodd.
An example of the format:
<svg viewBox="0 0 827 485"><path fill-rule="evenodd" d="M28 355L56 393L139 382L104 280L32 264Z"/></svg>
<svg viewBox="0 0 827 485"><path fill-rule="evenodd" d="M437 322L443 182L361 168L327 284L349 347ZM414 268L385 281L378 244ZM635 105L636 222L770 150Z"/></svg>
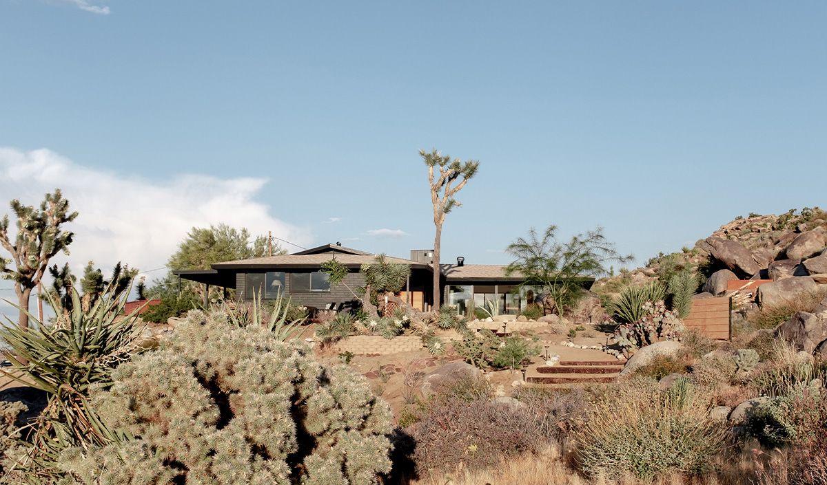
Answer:
<svg viewBox="0 0 827 485"><path fill-rule="evenodd" d="M466 389L458 382L456 388ZM455 388L455 389L456 389ZM542 450L553 436L543 434L526 407L494 405L489 395L452 390L437 393L406 431L416 440L420 476L459 467L486 469L521 453Z"/></svg>

